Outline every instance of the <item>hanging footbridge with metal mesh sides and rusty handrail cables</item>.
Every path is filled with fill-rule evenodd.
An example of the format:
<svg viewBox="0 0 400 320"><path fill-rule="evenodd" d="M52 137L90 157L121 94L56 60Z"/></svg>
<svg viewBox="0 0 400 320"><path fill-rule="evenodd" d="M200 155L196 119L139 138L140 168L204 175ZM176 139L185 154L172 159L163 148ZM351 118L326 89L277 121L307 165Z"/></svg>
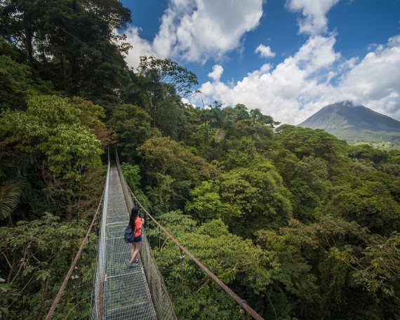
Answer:
<svg viewBox="0 0 400 320"><path fill-rule="evenodd" d="M156 265L152 249L147 241L145 230L142 233L142 249L139 255L138 267L128 267L131 257L131 246L124 241L124 229L128 224L129 213L133 206L140 206L145 212L145 218L151 219L171 239L180 251L180 260L183 270L184 254L189 257L199 268L203 269L208 276L215 281L228 295L235 300L243 319L251 316L253 319L263 320L245 300L239 298L229 287L227 287L215 274L197 260L192 253L187 251L164 227L159 225L150 213L140 204L138 199L129 189L124 175L119 166L118 154L114 152L111 159L109 154L107 166L107 178L105 189L98 210L86 233L85 239L79 248L72 265L69 267L67 276L63 281L58 295L55 297L51 309L48 311L46 320L52 319L53 313L65 291L69 279L74 279L76 263L79 260L84 245L95 225L96 216L101 213L100 232L98 236L98 255L93 280L93 292L91 297L91 320L173 320L178 319L168 291ZM101 212L100 212L101 208ZM182 303L185 301L184 277L182 272ZM182 306L183 310L185 307ZM238 312L238 310L234 311ZM185 319L185 312L181 315ZM218 314L215 315L218 319Z"/></svg>

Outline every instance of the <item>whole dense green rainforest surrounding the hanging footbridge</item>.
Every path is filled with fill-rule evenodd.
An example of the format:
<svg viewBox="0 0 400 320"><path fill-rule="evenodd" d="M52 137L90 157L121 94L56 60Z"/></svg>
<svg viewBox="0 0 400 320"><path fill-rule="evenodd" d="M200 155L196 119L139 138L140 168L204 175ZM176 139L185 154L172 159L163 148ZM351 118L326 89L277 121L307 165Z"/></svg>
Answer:
<svg viewBox="0 0 400 320"><path fill-rule="evenodd" d="M115 146L147 211L265 319L400 319L400 150L240 102L187 105L190 70L126 65L130 21L117 0L0 1L0 319L46 316ZM90 240L54 319L88 319ZM180 319L171 241L159 269ZM185 274L186 319L241 319L204 272Z"/></svg>

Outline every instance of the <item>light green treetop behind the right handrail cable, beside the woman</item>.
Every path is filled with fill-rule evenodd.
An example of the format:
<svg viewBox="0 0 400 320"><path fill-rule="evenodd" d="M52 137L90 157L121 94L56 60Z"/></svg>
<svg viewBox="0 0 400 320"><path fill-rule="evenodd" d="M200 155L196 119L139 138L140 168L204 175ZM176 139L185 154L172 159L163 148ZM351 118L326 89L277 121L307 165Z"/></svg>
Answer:
<svg viewBox="0 0 400 320"><path fill-rule="evenodd" d="M197 228L185 215L175 212L159 216L159 221L225 284L247 286L249 291L258 292L269 283L269 270L265 268L267 260L260 248L251 241L229 234L227 226L220 220ZM187 227L182 229L182 225ZM154 254L159 257L159 267L178 316L185 314L186 319L210 319L218 314L221 319L241 319L239 305L187 256L183 259L185 311L182 310L180 253L175 244L165 241L161 252Z"/></svg>

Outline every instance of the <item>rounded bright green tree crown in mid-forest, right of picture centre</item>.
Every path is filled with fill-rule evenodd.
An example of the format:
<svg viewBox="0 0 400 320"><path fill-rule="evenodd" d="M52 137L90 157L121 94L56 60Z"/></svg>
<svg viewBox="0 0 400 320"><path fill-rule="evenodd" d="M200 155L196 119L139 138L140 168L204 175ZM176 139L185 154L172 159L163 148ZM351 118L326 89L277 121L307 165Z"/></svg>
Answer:
<svg viewBox="0 0 400 320"><path fill-rule="evenodd" d="M189 212L223 218L232 232L246 237L253 237L258 229L286 225L292 214L290 192L266 159L222 173L212 184L194 189L192 196L186 205Z"/></svg>

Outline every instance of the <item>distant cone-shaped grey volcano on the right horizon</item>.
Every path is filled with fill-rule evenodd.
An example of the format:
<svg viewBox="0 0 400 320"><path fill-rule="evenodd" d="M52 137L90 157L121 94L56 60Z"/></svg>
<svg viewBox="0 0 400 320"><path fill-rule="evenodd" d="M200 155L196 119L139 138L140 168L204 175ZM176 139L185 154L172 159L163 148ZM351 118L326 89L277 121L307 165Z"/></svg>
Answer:
<svg viewBox="0 0 400 320"><path fill-rule="evenodd" d="M400 121L349 101L327 105L298 126L323 129L349 144L400 148Z"/></svg>

